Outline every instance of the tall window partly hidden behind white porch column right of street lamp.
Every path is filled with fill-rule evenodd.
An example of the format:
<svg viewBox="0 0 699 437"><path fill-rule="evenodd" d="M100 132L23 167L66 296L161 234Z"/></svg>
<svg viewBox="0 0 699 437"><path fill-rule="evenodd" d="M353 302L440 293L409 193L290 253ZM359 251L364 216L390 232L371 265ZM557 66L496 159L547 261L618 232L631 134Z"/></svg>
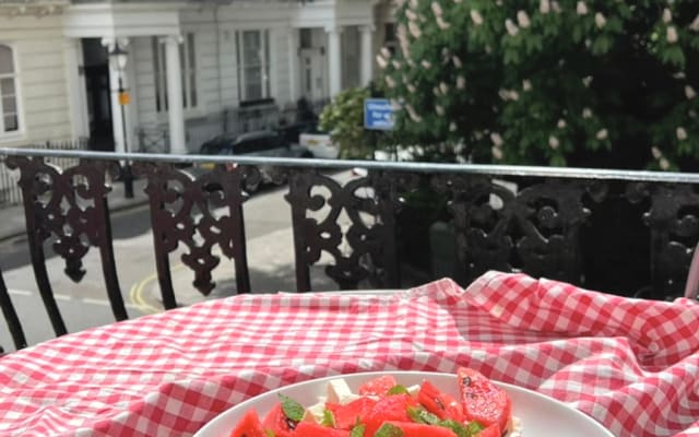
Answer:
<svg viewBox="0 0 699 437"><path fill-rule="evenodd" d="M155 72L155 108L158 113L167 111L167 63L165 45L153 37L153 71ZM182 76L182 106L186 109L197 107L197 56L194 34L186 34L179 45L179 62Z"/></svg>

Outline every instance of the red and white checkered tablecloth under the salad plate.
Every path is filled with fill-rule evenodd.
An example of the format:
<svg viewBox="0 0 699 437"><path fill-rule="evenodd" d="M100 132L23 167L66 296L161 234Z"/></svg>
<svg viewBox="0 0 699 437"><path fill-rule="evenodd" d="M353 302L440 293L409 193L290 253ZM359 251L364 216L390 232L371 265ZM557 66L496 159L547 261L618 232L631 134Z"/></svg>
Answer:
<svg viewBox="0 0 699 437"><path fill-rule="evenodd" d="M1 436L191 436L280 386L458 366L537 390L619 437L699 436L699 305L489 272L394 295L245 295L0 358ZM525 425L525 424L524 424Z"/></svg>

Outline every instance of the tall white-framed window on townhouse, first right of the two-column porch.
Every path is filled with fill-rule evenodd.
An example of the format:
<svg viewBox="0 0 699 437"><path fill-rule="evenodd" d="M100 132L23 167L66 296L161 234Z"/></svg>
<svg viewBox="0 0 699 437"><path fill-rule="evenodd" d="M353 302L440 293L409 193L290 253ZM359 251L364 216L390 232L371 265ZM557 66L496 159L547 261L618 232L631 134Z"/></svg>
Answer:
<svg viewBox="0 0 699 437"><path fill-rule="evenodd" d="M270 97L270 31L236 32L240 101Z"/></svg>

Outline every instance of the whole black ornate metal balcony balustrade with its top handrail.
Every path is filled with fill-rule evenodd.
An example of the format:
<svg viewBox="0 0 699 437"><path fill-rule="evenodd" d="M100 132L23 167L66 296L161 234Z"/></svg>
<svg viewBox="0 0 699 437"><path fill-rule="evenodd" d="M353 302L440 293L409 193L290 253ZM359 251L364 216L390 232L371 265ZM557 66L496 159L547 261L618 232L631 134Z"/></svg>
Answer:
<svg viewBox="0 0 699 437"><path fill-rule="evenodd" d="M257 157L234 163L227 156L46 150L0 150L0 156L21 172L32 262L57 334L64 327L42 249L49 238L74 281L84 273L81 260L90 247L99 248L115 318L128 316L108 208L110 182L119 182L119 163L127 158L147 179L165 308L177 305L168 255L178 244L203 294L216 285L216 246L235 262L237 292L254 291L245 201L261 180L285 187L298 292L311 288L310 268L327 263L324 272L337 288L405 287L437 279L437 271L467 284L497 269L667 299L682 294L699 240L699 174ZM80 163L62 169L45 163L56 156ZM203 175L187 168L202 163L216 167ZM355 167L366 168L366 176L344 185L333 176ZM446 225L446 238L436 238L435 223ZM0 304L12 322L2 288L0 282ZM13 326L12 332L21 347L21 329Z"/></svg>

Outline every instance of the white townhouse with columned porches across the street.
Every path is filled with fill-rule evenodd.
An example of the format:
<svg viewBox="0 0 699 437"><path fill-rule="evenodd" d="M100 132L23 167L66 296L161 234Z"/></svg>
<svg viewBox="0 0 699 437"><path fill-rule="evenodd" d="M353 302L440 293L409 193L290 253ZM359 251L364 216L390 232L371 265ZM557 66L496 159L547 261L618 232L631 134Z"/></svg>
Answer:
<svg viewBox="0 0 699 437"><path fill-rule="evenodd" d="M196 151L242 115L367 84L393 40L389 0L0 0L0 146Z"/></svg>

